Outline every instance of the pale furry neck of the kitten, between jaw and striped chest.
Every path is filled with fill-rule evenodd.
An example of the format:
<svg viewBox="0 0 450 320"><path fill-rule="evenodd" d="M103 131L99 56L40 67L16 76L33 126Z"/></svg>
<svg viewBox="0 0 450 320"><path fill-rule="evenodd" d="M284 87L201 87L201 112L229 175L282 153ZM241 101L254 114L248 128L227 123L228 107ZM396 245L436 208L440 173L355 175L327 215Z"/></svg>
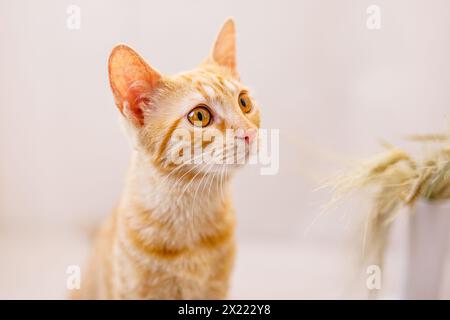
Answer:
<svg viewBox="0 0 450 320"><path fill-rule="evenodd" d="M174 169L177 170L177 169ZM195 175L186 171L165 171L151 159L134 151L121 206L141 208L161 220L201 222L211 219L229 202L229 179L223 175Z"/></svg>

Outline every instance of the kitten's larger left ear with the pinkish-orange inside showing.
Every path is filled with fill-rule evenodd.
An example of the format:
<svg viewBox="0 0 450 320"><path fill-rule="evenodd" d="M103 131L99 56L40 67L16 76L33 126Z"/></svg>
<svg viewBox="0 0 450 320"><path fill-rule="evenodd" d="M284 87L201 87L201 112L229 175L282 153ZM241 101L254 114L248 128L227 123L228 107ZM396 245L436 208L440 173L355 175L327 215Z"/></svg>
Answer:
<svg viewBox="0 0 450 320"><path fill-rule="evenodd" d="M122 114L137 125L144 123L142 106L158 86L161 74L126 45L114 47L108 62L109 83Z"/></svg>

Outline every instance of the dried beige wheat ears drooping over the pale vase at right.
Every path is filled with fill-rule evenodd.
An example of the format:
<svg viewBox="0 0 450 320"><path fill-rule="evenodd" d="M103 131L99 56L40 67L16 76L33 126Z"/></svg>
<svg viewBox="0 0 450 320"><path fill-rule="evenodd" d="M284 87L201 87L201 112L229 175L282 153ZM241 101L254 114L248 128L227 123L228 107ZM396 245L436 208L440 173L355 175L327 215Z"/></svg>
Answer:
<svg viewBox="0 0 450 320"><path fill-rule="evenodd" d="M375 190L363 240L366 263L383 265L389 227L401 208L413 206L418 199L450 199L450 137L416 135L410 140L433 145L432 151L417 158L388 146L386 152L327 184L334 190L332 203L352 191Z"/></svg>

